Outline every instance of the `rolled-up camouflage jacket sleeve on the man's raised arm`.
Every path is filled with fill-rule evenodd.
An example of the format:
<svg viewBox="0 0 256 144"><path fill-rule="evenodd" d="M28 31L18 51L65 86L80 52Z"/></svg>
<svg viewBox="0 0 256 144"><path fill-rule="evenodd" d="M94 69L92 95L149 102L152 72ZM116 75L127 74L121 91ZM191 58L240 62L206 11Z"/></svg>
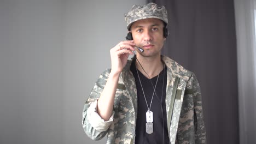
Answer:
<svg viewBox="0 0 256 144"><path fill-rule="evenodd" d="M92 88L88 100L84 104L82 124L86 135L92 140L102 139L113 122L114 111L108 121L104 121L97 113L97 99L100 98L107 82L109 71L106 70L100 75L94 88Z"/></svg>

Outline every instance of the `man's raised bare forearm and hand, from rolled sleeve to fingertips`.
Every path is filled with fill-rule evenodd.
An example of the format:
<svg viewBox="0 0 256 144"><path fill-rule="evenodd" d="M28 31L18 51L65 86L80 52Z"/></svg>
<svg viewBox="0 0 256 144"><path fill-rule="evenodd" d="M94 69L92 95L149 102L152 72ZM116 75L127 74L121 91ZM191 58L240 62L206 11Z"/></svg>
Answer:
<svg viewBox="0 0 256 144"><path fill-rule="evenodd" d="M97 112L104 121L108 121L112 115L115 92L117 91L119 75L127 63L129 55L132 55L135 49L133 40L121 41L110 50L111 72L104 89L98 99Z"/></svg>

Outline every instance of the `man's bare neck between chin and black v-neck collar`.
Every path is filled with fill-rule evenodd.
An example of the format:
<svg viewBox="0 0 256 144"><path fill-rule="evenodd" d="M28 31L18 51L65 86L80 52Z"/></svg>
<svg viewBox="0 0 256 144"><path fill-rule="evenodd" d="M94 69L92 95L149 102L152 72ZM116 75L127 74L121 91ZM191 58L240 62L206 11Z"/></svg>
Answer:
<svg viewBox="0 0 256 144"><path fill-rule="evenodd" d="M136 67L141 73L148 77L148 79L152 79L152 77L157 76L160 71L163 69L161 62L161 55L155 57L143 57L141 55L137 55L137 59L139 63L136 61ZM142 67L143 69L142 69ZM146 71L146 73L145 73Z"/></svg>

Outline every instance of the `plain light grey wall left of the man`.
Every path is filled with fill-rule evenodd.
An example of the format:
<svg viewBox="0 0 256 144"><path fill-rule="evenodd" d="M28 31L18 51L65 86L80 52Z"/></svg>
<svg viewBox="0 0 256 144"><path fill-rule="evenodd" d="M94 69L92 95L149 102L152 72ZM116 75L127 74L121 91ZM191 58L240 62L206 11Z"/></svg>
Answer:
<svg viewBox="0 0 256 144"><path fill-rule="evenodd" d="M0 1L0 143L94 142L83 104L139 1Z"/></svg>

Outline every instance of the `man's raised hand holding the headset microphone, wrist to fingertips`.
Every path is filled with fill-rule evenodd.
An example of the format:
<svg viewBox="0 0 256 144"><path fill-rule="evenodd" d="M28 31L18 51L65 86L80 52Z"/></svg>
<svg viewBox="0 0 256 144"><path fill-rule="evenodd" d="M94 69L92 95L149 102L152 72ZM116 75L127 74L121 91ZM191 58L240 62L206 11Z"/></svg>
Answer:
<svg viewBox="0 0 256 144"><path fill-rule="evenodd" d="M129 55L133 55L135 43L133 40L121 41L110 50L111 73L121 73L127 63Z"/></svg>

